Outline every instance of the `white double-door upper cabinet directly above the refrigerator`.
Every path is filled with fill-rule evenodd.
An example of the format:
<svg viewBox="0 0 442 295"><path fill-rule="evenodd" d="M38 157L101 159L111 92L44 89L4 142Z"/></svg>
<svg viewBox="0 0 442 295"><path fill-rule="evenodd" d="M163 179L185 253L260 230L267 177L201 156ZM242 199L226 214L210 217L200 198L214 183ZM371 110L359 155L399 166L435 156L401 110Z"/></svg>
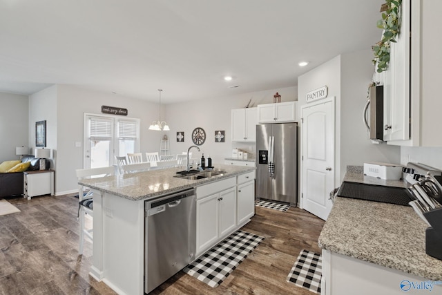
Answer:
<svg viewBox="0 0 442 295"><path fill-rule="evenodd" d="M297 102L277 104L258 104L259 123L298 122L296 117Z"/></svg>

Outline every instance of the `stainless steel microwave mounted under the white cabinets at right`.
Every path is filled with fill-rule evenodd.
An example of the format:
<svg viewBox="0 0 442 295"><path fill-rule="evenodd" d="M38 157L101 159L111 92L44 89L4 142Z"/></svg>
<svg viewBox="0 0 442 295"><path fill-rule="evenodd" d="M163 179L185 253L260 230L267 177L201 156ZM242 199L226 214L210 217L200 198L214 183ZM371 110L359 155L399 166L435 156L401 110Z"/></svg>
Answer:
<svg viewBox="0 0 442 295"><path fill-rule="evenodd" d="M367 119L368 108L369 120ZM367 100L367 104L365 104L363 120L367 129L369 129L370 139L375 142L383 142L384 86L370 86L369 99Z"/></svg>

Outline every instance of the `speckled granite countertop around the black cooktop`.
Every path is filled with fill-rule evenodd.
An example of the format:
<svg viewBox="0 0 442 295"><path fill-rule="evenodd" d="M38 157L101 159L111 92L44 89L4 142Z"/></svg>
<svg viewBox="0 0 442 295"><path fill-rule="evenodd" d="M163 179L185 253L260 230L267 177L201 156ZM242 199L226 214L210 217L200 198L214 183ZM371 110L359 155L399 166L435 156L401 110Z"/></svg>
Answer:
<svg viewBox="0 0 442 295"><path fill-rule="evenodd" d="M349 169L345 181L367 178L362 171L357 174ZM365 183L379 184L374 180L369 177ZM338 254L442 280L442 260L425 254L426 228L412 207L336 197L318 244Z"/></svg>

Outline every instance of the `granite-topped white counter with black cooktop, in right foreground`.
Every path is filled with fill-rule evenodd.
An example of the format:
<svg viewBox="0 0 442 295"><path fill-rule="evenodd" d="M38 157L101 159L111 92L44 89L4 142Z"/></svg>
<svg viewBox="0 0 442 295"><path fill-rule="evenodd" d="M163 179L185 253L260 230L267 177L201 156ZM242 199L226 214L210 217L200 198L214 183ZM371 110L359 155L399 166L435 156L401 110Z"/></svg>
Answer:
<svg viewBox="0 0 442 295"><path fill-rule="evenodd" d="M362 169L350 169L344 181L407 187ZM425 254L426 228L412 207L336 197L318 239L321 294L442 294L442 260Z"/></svg>

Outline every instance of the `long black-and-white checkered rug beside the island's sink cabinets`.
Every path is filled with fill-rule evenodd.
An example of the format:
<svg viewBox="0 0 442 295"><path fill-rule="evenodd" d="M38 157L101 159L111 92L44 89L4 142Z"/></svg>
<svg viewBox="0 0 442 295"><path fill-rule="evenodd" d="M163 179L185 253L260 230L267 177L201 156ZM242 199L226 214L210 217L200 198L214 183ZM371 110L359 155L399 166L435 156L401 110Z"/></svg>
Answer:
<svg viewBox="0 0 442 295"><path fill-rule="evenodd" d="M184 272L213 288L218 287L262 240L262 236L236 231L184 268Z"/></svg>

